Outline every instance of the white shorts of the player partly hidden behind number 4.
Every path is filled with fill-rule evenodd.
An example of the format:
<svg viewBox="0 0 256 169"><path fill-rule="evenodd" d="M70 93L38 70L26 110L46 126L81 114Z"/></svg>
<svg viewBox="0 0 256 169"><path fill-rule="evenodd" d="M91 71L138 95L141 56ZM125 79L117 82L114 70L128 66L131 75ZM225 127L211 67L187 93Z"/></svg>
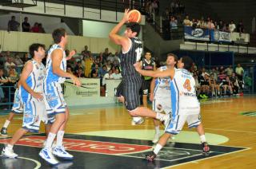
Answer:
<svg viewBox="0 0 256 169"><path fill-rule="evenodd" d="M166 97L154 97L153 103L152 103L152 110L154 112L166 112L166 114L169 114L171 112L171 101L170 96Z"/></svg>

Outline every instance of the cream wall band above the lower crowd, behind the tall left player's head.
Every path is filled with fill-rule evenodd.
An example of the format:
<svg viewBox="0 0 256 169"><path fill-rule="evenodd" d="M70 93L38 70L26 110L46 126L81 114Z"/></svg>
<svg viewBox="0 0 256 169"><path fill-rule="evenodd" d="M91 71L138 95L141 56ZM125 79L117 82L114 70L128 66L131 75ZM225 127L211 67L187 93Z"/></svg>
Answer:
<svg viewBox="0 0 256 169"><path fill-rule="evenodd" d="M112 53L119 50L118 45L112 43L109 38L70 35L68 41L66 49L77 49L78 53L84 49L85 45L88 45L92 53L101 53L105 48L109 48ZM54 41L50 33L8 33L0 30L0 51L27 52L32 43L42 43L48 48Z"/></svg>

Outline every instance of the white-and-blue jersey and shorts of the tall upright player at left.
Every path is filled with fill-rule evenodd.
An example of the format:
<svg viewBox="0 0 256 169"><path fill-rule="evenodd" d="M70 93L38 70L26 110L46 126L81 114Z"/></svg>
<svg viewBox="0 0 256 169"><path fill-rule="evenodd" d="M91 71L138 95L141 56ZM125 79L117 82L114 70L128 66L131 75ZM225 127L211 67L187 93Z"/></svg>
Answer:
<svg viewBox="0 0 256 169"><path fill-rule="evenodd" d="M66 77L59 77L57 74L53 73L51 53L53 53L55 49L61 49L63 52L60 69L66 72L66 53L61 46L54 44L48 52L46 60L46 77L43 84L46 99L46 112L50 123L54 122L55 114L66 112L66 101L64 100L61 86L62 83L65 82Z"/></svg>

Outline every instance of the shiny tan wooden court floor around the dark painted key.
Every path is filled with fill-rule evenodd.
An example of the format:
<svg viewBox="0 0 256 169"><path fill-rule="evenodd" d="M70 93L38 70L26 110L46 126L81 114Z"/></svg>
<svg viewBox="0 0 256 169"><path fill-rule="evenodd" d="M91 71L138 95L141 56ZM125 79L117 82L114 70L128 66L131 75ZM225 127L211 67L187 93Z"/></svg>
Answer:
<svg viewBox="0 0 256 169"><path fill-rule="evenodd" d="M243 116L242 112L256 112L256 96L239 96L201 100L202 123L206 133L225 136L229 140L222 146L246 147L244 151L192 160L174 165L174 168L256 168L256 116ZM8 115L0 116L2 125ZM154 130L152 120L138 126L130 124L130 116L118 105L101 105L86 108L70 108L70 120L66 133L104 131ZM22 116L16 116L8 128L13 133L20 128ZM188 131L187 127L183 128ZM43 128L41 128L43 132ZM135 132L138 135L138 132ZM152 133L152 138L154 133ZM136 138L136 136L134 136ZM189 141L190 138L187 138ZM208 140L210 142L210 140ZM1 161L0 161L1 163ZM121 165L122 166L122 165ZM102 167L104 168L104 167ZM168 168L168 167L167 167Z"/></svg>

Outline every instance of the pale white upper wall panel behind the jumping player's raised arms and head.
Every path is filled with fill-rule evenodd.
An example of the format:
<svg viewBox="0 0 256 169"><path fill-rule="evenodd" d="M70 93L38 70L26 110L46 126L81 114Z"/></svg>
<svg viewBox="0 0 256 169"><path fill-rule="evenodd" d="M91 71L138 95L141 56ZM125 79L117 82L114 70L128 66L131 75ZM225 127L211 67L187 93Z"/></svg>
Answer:
<svg viewBox="0 0 256 169"><path fill-rule="evenodd" d="M109 37L110 30L114 28L117 24L107 23L107 22L94 22L94 21L82 21L82 33L86 37ZM126 30L126 26L122 26L119 33L122 35ZM138 36L142 39L142 26L141 32Z"/></svg>

